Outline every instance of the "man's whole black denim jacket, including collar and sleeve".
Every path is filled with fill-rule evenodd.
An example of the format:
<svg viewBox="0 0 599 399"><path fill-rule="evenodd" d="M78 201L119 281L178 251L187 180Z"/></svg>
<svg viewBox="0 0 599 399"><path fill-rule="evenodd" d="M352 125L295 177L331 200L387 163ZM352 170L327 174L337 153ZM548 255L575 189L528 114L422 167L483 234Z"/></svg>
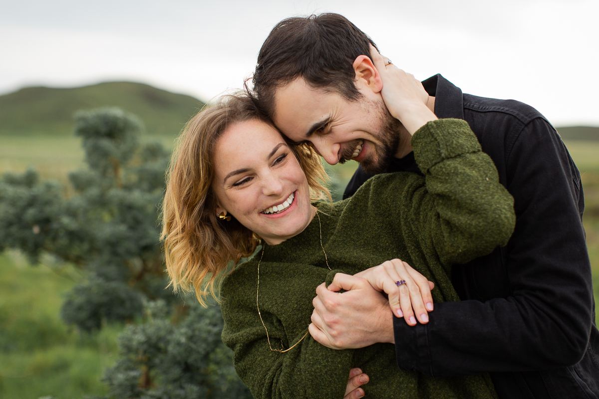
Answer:
<svg viewBox="0 0 599 399"><path fill-rule="evenodd" d="M470 124L515 199L508 245L454 266L461 302L429 323L394 318L398 366L433 376L491 373L501 399L599 399L599 331L582 227L580 173L536 109L462 94L441 75L423 86L439 118ZM419 172L413 154L389 172ZM361 168L344 198L368 179Z"/></svg>

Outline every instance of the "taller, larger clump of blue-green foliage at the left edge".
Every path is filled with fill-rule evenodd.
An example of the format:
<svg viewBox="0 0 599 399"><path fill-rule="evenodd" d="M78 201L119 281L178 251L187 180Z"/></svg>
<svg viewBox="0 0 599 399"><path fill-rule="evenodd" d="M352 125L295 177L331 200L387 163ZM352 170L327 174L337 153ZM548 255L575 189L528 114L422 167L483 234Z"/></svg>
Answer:
<svg viewBox="0 0 599 399"><path fill-rule="evenodd" d="M120 109L78 112L88 167L69 175L74 193L33 170L0 183L0 250L19 248L34 262L46 251L86 270L61 312L84 331L140 316L144 297L174 300L164 290L157 214L169 154L139 148L142 130Z"/></svg>

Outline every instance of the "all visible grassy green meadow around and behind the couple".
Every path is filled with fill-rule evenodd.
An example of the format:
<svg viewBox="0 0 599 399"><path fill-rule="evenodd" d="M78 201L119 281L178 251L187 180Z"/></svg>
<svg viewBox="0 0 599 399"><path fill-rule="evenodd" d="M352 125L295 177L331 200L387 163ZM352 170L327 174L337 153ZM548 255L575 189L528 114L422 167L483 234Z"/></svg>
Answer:
<svg viewBox="0 0 599 399"><path fill-rule="evenodd" d="M173 139L146 136L172 148ZM566 141L585 189L584 226L599 300L599 141ZM0 173L35 167L44 178L66 182L69 170L83 165L74 137L0 136ZM356 163L329 167L338 198ZM0 254L0 398L55 399L105 394L104 369L116 360L117 334L123 326L87 336L59 318L63 294L80 278L68 265L44 257L31 266L19 252Z"/></svg>

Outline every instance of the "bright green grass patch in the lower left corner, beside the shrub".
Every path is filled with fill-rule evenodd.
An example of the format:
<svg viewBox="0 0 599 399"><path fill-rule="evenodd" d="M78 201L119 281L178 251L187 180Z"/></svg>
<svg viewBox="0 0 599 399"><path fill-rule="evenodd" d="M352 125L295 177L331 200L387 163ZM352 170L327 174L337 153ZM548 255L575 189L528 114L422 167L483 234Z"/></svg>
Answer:
<svg viewBox="0 0 599 399"><path fill-rule="evenodd" d="M62 296L75 276L49 259L30 266L18 252L0 255L0 398L106 393L100 379L122 327L84 336L62 323Z"/></svg>

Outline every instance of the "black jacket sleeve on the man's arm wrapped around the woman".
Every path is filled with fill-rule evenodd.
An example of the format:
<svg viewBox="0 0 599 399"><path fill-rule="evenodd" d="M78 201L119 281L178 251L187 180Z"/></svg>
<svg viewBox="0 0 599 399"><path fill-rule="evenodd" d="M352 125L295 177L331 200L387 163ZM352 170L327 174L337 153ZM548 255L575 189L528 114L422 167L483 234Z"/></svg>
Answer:
<svg viewBox="0 0 599 399"><path fill-rule="evenodd" d="M594 315L576 167L537 118L514 138L506 170L518 220L501 249L507 292L435 304L426 325L394 319L400 368L435 376L547 370L585 353Z"/></svg>

